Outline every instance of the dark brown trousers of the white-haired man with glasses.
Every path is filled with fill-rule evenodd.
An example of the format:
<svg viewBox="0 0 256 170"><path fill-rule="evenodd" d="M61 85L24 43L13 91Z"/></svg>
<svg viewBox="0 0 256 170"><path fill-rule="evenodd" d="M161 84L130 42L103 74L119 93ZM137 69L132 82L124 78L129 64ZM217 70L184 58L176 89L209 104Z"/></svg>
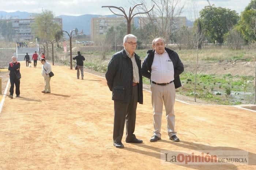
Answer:
<svg viewBox="0 0 256 170"><path fill-rule="evenodd" d="M138 85L132 86L132 96L129 102L114 101L114 142L121 142L124 134L124 123L126 125L126 140L136 138L135 130L136 109L138 103Z"/></svg>

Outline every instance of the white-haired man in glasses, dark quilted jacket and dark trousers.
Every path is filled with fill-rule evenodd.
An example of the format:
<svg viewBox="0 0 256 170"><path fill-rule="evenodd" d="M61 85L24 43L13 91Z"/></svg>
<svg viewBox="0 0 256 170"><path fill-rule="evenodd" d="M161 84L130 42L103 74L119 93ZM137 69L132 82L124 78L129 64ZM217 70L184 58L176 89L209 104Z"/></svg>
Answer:
<svg viewBox="0 0 256 170"><path fill-rule="evenodd" d="M110 59L106 80L114 100L114 146L123 148L121 142L126 124L126 143L143 143L133 134L137 103L143 104L141 60L134 53L137 37L124 36L124 49Z"/></svg>

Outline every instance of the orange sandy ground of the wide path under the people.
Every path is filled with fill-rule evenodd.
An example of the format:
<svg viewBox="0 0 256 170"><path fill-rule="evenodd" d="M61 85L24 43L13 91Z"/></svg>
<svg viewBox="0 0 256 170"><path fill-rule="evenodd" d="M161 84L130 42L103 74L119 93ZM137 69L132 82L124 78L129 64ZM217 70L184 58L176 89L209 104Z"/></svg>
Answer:
<svg viewBox="0 0 256 170"><path fill-rule="evenodd" d="M52 66L51 94L43 94L41 67L21 65L20 98L5 98L0 113L0 169L256 169L256 113L229 106L176 101L180 142L169 140L162 117L162 140L153 134L150 93L138 105L135 134L143 144L113 146L113 101L106 80ZM9 92L7 92L9 94ZM124 132L125 133L125 132ZM124 135L125 136L125 135ZM160 151L240 150L249 165L163 164Z"/></svg>

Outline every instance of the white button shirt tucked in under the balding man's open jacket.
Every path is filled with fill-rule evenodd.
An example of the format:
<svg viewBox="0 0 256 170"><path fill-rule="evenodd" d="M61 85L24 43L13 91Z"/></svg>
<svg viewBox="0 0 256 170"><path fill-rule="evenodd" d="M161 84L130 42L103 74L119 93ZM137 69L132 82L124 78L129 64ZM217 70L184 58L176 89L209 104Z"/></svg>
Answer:
<svg viewBox="0 0 256 170"><path fill-rule="evenodd" d="M151 81L156 83L168 83L174 80L174 68L168 53L165 51L159 55L155 52L151 66Z"/></svg>

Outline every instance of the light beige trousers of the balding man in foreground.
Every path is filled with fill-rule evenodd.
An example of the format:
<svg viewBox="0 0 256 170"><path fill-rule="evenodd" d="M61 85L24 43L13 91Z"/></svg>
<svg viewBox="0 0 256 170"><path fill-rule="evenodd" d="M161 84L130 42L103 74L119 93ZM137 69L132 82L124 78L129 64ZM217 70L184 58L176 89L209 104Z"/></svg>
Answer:
<svg viewBox="0 0 256 170"><path fill-rule="evenodd" d="M174 115L174 101L175 101L175 86L174 83L161 86L151 82L151 102L153 106L153 120L154 120L154 136L161 137L161 123L163 104L166 110L167 131L169 137L176 135L175 128L175 115Z"/></svg>

